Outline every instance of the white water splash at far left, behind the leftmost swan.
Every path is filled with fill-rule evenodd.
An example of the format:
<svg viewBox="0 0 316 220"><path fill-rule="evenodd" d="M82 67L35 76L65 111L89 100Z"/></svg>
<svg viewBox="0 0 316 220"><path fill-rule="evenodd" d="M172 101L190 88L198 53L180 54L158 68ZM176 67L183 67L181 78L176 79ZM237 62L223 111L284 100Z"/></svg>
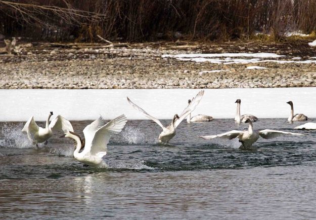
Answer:
<svg viewBox="0 0 316 220"><path fill-rule="evenodd" d="M32 148L32 143L27 135L22 133L23 124L13 125L5 123L1 129L4 139L0 141L0 146L5 148Z"/></svg>

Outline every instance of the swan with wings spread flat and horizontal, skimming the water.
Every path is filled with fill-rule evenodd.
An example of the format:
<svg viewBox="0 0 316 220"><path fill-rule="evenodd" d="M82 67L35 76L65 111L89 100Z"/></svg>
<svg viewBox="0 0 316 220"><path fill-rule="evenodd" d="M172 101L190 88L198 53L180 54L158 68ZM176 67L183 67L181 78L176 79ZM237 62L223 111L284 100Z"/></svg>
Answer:
<svg viewBox="0 0 316 220"><path fill-rule="evenodd" d="M258 140L259 136L261 136L264 139L272 139L272 138L275 138L275 137L278 137L281 135L285 135L285 134L303 135L300 133L292 133L292 132L270 130L270 129L257 131L257 130L253 129L253 125L252 125L252 122L250 119L247 119L245 121L245 123L249 123L248 131L233 130L233 131L229 131L229 132L225 132L225 133L221 133L221 134L217 134L217 135L208 135L208 136L199 136L199 137L201 137L205 140L210 140L210 139L213 139L215 137L227 138L227 139L231 140L231 139L238 137L239 142L242 143L242 146L240 146L240 149L252 150L252 149L254 149L254 148L252 148L252 144Z"/></svg>

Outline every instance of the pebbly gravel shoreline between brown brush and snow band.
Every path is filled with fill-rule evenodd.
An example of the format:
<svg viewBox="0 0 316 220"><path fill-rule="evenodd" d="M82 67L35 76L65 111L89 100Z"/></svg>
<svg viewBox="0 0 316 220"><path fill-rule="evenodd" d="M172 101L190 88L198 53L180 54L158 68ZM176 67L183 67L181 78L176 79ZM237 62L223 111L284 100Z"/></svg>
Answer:
<svg viewBox="0 0 316 220"><path fill-rule="evenodd" d="M296 43L156 42L22 45L21 54L0 56L1 89L274 88L316 86L315 63L181 61L164 54L277 53L283 60L316 56L309 41ZM294 59L293 59L294 58ZM247 69L247 66L266 69ZM213 71L220 70L220 71Z"/></svg>

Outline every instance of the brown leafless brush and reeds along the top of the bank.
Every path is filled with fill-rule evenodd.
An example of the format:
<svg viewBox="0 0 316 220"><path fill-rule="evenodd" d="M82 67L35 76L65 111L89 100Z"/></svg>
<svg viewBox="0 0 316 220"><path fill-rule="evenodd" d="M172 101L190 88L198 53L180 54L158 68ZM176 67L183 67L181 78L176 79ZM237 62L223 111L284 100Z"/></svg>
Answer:
<svg viewBox="0 0 316 220"><path fill-rule="evenodd" d="M0 1L0 33L37 40L280 40L316 30L316 0Z"/></svg>

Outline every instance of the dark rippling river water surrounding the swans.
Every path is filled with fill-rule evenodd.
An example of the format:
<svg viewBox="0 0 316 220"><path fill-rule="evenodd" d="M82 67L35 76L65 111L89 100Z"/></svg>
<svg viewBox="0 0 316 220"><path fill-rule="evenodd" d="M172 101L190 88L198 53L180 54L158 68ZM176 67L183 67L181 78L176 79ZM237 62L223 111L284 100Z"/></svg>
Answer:
<svg viewBox="0 0 316 220"><path fill-rule="evenodd" d="M260 119L254 126L293 132L299 124ZM182 123L174 146L156 144L154 122L129 121L110 140L109 168L93 169L72 157L71 140L54 136L34 149L22 126L0 123L1 219L316 217L316 131L259 139L257 151L241 151L238 140L197 137L247 128L232 119Z"/></svg>

